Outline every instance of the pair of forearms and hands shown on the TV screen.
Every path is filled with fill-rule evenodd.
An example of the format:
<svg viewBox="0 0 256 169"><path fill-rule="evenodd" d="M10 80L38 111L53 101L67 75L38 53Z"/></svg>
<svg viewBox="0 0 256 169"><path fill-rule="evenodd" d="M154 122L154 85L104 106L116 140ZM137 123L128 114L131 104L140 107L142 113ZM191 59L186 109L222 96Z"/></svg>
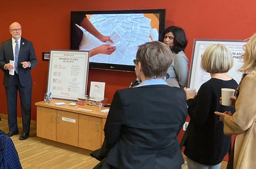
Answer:
<svg viewBox="0 0 256 169"><path fill-rule="evenodd" d="M78 25L77 25L78 26ZM86 30L87 32L91 33L95 38L100 40L103 43L106 43L107 41L110 43L114 43L111 39L110 36L104 36L102 35L95 27L92 25L92 23L88 20L87 17L84 17L84 19L81 21L80 26L78 26L83 32ZM85 34L85 33L84 33ZM84 40L86 41L86 44L89 44L89 48L86 50L90 50L90 57L97 55L99 53L101 54L106 54L106 55L111 55L115 50L116 46L111 46L111 45L99 45L98 47L95 47L93 44L90 45L90 40L88 40L88 36L84 35L81 38L81 43L79 45L79 50L81 50L81 44L83 44ZM82 49L83 50L83 49Z"/></svg>

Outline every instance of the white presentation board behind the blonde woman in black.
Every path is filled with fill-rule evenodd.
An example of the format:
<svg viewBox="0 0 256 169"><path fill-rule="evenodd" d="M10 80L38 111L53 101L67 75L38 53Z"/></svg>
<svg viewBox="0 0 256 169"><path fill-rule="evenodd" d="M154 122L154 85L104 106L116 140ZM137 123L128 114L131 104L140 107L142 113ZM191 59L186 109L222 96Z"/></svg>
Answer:
<svg viewBox="0 0 256 169"><path fill-rule="evenodd" d="M230 69L230 71L228 71L227 74L231 76L237 83L240 82L242 73L239 72L238 69L243 66L241 55L244 53L243 45L246 44L244 40L195 39L188 88L196 88L196 91L198 91L200 86L211 78L210 73L203 71L201 68L201 56L209 45L216 43L225 45L231 50L234 59L234 66Z"/></svg>

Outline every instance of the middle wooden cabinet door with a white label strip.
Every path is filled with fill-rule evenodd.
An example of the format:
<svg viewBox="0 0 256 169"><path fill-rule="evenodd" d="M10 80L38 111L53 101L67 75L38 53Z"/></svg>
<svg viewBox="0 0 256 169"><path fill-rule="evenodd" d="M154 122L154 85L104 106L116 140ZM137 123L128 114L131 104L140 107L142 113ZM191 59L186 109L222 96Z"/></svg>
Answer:
<svg viewBox="0 0 256 169"><path fill-rule="evenodd" d="M57 110L57 141L78 146L78 114Z"/></svg>

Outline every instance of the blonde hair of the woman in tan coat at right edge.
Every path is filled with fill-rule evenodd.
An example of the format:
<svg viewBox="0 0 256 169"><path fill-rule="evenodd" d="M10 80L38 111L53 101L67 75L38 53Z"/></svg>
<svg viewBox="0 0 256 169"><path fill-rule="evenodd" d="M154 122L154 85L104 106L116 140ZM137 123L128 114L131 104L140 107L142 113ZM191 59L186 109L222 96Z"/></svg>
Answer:
<svg viewBox="0 0 256 169"><path fill-rule="evenodd" d="M243 45L245 53L243 54L243 66L239 69L241 72L253 71L256 69L256 33L250 40Z"/></svg>

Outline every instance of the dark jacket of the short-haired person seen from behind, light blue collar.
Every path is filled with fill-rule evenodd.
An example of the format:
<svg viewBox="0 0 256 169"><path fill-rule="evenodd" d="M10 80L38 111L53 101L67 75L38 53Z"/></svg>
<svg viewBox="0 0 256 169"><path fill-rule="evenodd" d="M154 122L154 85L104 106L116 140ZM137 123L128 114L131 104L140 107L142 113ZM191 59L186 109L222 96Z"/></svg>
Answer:
<svg viewBox="0 0 256 169"><path fill-rule="evenodd" d="M107 163L118 169L178 169L185 92L167 85L116 91L104 127Z"/></svg>

